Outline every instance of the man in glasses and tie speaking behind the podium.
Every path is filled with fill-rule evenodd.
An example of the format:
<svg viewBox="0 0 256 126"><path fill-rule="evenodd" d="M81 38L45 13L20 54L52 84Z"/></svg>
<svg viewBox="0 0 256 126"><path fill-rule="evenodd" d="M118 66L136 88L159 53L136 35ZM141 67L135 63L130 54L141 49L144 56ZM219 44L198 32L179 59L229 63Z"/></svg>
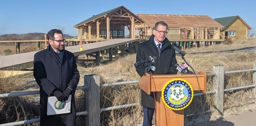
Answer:
<svg viewBox="0 0 256 126"><path fill-rule="evenodd" d="M156 22L153 35L148 41L138 46L136 62L147 60L148 56L158 57L155 60L154 74L177 74L177 63L175 50L172 49L170 41L166 38L168 26L165 22ZM145 66L136 68L137 73L142 77L145 73ZM148 95L141 90L141 104L143 106L143 126L152 125L152 117L155 111L155 93ZM158 120L156 120L158 121Z"/></svg>

